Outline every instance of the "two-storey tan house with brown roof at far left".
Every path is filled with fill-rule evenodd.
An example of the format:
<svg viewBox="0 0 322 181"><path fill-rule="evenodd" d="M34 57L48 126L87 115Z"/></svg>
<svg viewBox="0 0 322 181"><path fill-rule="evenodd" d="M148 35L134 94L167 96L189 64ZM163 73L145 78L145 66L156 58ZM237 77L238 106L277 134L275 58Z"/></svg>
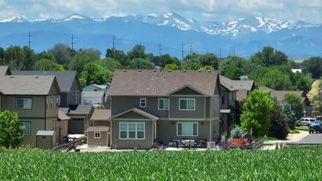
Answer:
<svg viewBox="0 0 322 181"><path fill-rule="evenodd" d="M22 144L34 147L54 147L58 130L58 95L61 90L54 76L0 76L0 110L17 112L21 125L25 126ZM41 137L45 132L54 131L51 144ZM39 132L39 138L37 138ZM47 134L47 133L45 133ZM46 143L46 145L43 145ZM50 147L49 147L50 146Z"/></svg>

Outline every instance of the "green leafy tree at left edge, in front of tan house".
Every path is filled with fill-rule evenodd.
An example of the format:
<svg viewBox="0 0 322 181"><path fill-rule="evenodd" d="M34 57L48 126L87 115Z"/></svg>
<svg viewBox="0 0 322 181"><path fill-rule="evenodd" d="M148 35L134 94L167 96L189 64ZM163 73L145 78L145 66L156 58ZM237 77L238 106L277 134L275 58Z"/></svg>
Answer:
<svg viewBox="0 0 322 181"><path fill-rule="evenodd" d="M18 147L23 141L21 134L25 129L19 123L17 112L5 110L0 113L0 145L6 148Z"/></svg>

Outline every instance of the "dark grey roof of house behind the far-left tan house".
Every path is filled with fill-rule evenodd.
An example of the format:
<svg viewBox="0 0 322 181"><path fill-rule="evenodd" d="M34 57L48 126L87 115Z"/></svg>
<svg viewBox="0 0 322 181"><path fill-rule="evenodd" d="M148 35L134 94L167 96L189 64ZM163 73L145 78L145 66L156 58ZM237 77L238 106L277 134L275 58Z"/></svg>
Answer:
<svg viewBox="0 0 322 181"><path fill-rule="evenodd" d="M78 82L76 71L12 71L12 75L55 75L59 88L63 92L72 90L72 84L75 79ZM78 86L80 86L81 90L79 82Z"/></svg>

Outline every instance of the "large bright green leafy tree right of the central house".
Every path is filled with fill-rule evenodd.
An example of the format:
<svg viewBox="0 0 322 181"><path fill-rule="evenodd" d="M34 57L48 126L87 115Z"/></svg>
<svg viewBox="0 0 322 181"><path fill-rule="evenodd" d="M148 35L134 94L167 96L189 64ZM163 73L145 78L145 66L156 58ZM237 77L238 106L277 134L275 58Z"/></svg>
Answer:
<svg viewBox="0 0 322 181"><path fill-rule="evenodd" d="M264 136L270 128L270 110L272 110L270 91L250 92L240 117L241 128L246 132L252 128L255 137Z"/></svg>

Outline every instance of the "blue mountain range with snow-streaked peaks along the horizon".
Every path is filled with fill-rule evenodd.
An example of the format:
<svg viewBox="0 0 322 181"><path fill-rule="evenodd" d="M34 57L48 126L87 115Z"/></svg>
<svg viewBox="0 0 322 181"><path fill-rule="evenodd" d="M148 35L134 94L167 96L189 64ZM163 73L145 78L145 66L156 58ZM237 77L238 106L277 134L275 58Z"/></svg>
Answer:
<svg viewBox="0 0 322 181"><path fill-rule="evenodd" d="M113 36L117 49L129 51L142 44L147 52L169 53L182 58L190 52L230 54L248 58L264 46L279 49L290 58L303 60L321 56L322 25L304 21L290 22L268 17L245 17L226 22L198 22L175 12L155 15L89 17L72 14L64 19L24 19L15 16L0 20L0 47L28 45L39 52L56 43L100 49L103 55L111 47Z"/></svg>

